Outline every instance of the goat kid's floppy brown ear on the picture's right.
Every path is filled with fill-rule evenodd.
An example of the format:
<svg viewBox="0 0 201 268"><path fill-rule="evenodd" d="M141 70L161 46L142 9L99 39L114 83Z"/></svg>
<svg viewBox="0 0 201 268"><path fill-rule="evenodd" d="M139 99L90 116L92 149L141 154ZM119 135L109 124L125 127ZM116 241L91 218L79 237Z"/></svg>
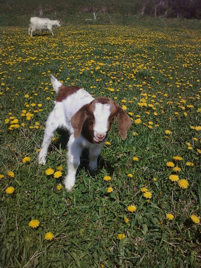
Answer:
<svg viewBox="0 0 201 268"><path fill-rule="evenodd" d="M124 140L127 136L127 132L131 126L132 121L120 106L117 106L117 118L119 125L119 133Z"/></svg>

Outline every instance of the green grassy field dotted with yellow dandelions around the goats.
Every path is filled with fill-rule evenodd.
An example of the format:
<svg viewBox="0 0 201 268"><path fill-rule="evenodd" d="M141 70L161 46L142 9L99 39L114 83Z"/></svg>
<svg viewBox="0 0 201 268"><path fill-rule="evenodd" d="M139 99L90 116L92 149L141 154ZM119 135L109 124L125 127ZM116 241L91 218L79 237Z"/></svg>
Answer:
<svg viewBox="0 0 201 268"><path fill-rule="evenodd" d="M0 28L0 266L200 267L200 30L53 31ZM83 153L70 193L65 130L37 164L51 73L115 100L133 121L125 141L115 121L95 177Z"/></svg>

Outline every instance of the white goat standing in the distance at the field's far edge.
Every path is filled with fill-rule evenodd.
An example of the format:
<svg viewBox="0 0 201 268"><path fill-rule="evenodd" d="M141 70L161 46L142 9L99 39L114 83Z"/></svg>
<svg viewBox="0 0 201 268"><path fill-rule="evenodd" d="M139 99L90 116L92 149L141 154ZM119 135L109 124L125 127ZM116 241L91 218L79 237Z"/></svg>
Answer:
<svg viewBox="0 0 201 268"><path fill-rule="evenodd" d="M58 19L51 20L49 18L31 17L28 34L32 36L33 32L36 30L49 30L52 32L52 35L54 35L52 31L53 26L61 27L60 20Z"/></svg>

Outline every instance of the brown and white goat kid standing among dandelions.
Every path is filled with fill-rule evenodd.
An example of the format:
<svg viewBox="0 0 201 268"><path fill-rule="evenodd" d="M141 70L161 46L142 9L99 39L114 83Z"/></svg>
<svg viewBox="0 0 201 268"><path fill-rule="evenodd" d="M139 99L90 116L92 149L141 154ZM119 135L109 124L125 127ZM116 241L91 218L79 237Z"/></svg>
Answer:
<svg viewBox="0 0 201 268"><path fill-rule="evenodd" d="M82 149L84 147L89 149L89 168L96 170L97 158L115 117L118 118L122 139L127 136L131 120L123 109L111 99L105 97L94 99L92 95L79 87L65 87L52 75L51 82L58 95L55 107L46 122L38 162L43 165L46 163L48 147L54 131L59 127L66 128L70 138L67 153L68 174L64 184L65 188L70 191L75 185Z"/></svg>

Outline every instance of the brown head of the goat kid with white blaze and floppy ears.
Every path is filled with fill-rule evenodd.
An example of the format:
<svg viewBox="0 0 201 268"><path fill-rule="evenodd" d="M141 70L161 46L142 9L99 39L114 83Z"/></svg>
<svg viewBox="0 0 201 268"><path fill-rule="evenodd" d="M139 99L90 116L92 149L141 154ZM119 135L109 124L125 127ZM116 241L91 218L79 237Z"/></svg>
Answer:
<svg viewBox="0 0 201 268"><path fill-rule="evenodd" d="M107 137L115 117L118 118L119 133L122 139L127 136L131 120L124 110L113 100L100 97L84 105L71 119L74 136L80 133L92 143L100 143Z"/></svg>

